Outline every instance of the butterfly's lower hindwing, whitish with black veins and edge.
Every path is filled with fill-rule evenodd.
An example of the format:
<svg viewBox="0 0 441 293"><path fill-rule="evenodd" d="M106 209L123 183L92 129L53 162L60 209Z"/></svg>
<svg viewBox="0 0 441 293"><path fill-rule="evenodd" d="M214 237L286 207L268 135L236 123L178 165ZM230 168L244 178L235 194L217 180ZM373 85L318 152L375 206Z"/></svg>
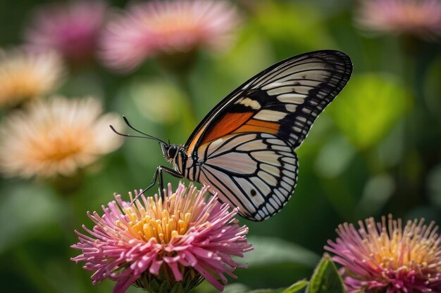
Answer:
<svg viewBox="0 0 441 293"><path fill-rule="evenodd" d="M234 134L211 148L201 145L198 181L210 185L221 201L239 207L254 221L277 213L289 200L297 181L297 155L272 134Z"/></svg>

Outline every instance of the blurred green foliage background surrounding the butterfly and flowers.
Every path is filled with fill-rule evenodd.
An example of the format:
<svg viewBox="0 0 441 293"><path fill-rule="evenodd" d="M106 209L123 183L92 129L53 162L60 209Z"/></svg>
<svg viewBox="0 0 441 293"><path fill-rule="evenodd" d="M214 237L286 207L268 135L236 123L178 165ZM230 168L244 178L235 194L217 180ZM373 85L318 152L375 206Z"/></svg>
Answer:
<svg viewBox="0 0 441 293"><path fill-rule="evenodd" d="M429 2L429 9L418 10ZM11 70L4 66L11 52L35 46L29 31L42 22L35 20L36 11L49 3L72 2L0 2L0 72ZM224 96L278 60L321 49L344 51L352 58L352 79L297 150L299 183L290 202L268 221L240 219L249 226L249 241L256 249L243 260L249 268L238 269L238 280L231 280L235 285L226 290L286 287L308 278L323 245L335 239L335 228L345 221L393 214L441 223L441 1L236 1L228 6L237 18L228 25L231 38L225 39L225 46L215 44L223 48L199 48L197 42L191 50L159 48L159 54L145 55L135 67L109 62L99 44L109 23L135 4L100 3L106 8L97 20L94 46L77 48L90 54L72 57L56 49L63 62L62 77L39 97L23 98L9 89L4 99L11 103L1 105L1 124L17 111L26 111L27 103L32 105L29 100L93 96L105 112L125 115L137 129L185 143ZM44 19L59 18L57 11L50 13ZM381 18L382 13L387 15ZM126 27L127 34L132 29ZM46 37L57 36L54 32ZM79 43L73 41L68 48L75 44ZM4 91L6 76L0 75ZM122 125L120 130L127 132ZM99 131L117 137L108 127ZM1 144L18 135L18 127L2 132ZM92 226L86 211L99 211L101 204L113 200L113 193L127 195L144 188L156 167L166 165L154 141L129 138L115 145L113 152L91 164L49 178L38 171L23 176L2 167L2 292L111 292L113 282L94 287L90 273L70 261L78 254L70 249L77 242L73 230L83 223ZM16 161L13 155L18 152L0 150L2 157ZM166 181L174 186L178 182L170 176ZM194 291L213 288L204 284Z"/></svg>

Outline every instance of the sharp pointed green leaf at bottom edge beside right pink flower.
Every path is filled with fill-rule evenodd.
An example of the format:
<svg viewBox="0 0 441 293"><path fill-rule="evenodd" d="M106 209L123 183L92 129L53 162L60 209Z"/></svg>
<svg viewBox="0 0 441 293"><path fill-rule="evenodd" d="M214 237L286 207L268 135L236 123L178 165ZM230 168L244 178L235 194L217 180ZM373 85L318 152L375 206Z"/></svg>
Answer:
<svg viewBox="0 0 441 293"><path fill-rule="evenodd" d="M345 293L342 277L337 267L325 255L314 270L311 281L306 288L306 293Z"/></svg>

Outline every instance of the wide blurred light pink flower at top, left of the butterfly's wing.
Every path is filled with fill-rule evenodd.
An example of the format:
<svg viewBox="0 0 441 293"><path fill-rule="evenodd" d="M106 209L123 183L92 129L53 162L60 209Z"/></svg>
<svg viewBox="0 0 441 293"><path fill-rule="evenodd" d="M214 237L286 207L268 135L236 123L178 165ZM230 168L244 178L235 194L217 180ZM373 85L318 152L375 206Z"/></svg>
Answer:
<svg viewBox="0 0 441 293"><path fill-rule="evenodd" d="M133 4L110 22L102 39L104 62L129 71L146 58L225 48L239 15L227 1L166 0Z"/></svg>

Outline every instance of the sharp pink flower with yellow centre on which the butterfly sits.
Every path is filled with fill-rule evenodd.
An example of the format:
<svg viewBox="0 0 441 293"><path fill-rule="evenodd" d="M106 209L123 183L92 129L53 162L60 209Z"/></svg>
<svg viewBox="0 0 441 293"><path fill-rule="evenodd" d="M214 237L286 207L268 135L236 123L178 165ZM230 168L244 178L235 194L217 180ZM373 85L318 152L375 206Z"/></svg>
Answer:
<svg viewBox="0 0 441 293"><path fill-rule="evenodd" d="M207 190L180 183L173 193L169 184L163 200L142 195L134 204L115 195L116 201L103 207L103 216L88 213L95 223L92 230L83 226L85 234L75 231L80 242L72 247L82 254L72 260L85 261L83 268L94 271L93 284L116 280L115 293L131 284L157 292L155 286L163 282L188 292L203 278L222 290L224 274L235 278L235 268L246 267L231 256L242 257L252 247L245 237L247 226L233 218L237 209L228 211L228 204L216 197L206 200Z"/></svg>

